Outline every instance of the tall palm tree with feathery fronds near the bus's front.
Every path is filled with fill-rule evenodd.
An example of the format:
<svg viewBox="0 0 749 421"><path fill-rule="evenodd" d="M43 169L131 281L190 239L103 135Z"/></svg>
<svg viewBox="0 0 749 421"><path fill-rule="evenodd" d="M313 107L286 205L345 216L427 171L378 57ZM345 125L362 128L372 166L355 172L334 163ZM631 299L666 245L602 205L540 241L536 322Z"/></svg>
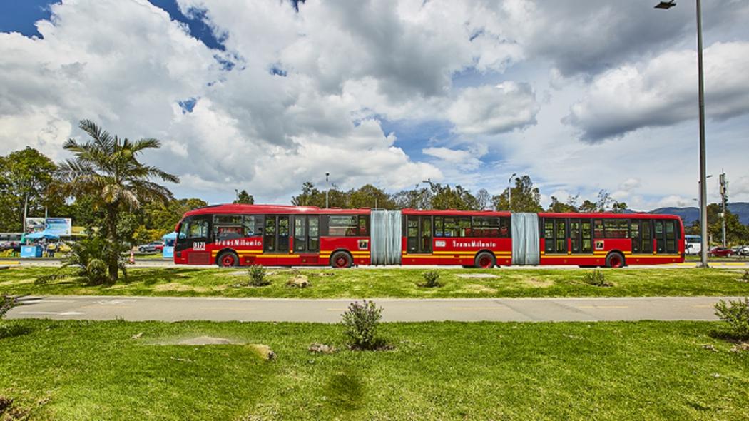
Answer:
<svg viewBox="0 0 749 421"><path fill-rule="evenodd" d="M65 142L63 148L73 152L75 158L58 167L59 188L68 197L92 198L94 204L104 210L103 231L109 247L106 258L109 281L117 282L121 249L117 225L121 211L132 211L145 202L161 201L166 204L172 199L172 192L151 181L152 178L171 183L180 181L176 175L138 161L138 155L143 151L161 147L158 139L139 139L135 142L119 139L88 120L81 121L79 127L91 136L91 140L79 143L75 139L68 139Z"/></svg>

